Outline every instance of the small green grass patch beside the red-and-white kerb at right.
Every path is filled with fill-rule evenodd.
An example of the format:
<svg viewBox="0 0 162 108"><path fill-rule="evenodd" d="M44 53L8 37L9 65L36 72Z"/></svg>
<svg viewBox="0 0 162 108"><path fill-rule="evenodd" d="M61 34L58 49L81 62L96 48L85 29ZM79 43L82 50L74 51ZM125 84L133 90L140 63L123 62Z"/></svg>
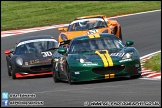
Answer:
<svg viewBox="0 0 162 108"><path fill-rule="evenodd" d="M161 72L161 53L158 53L151 59L147 60L144 67L152 71Z"/></svg>

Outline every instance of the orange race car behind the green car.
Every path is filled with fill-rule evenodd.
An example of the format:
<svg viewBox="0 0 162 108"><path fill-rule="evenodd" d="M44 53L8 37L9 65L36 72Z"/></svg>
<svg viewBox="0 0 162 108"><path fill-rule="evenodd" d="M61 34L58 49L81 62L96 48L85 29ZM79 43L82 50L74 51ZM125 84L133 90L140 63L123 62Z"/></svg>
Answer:
<svg viewBox="0 0 162 108"><path fill-rule="evenodd" d="M116 20L108 20L105 15L83 16L74 19L68 27L58 28L61 31L59 43L71 40L76 36L92 33L115 34L122 40L120 24Z"/></svg>

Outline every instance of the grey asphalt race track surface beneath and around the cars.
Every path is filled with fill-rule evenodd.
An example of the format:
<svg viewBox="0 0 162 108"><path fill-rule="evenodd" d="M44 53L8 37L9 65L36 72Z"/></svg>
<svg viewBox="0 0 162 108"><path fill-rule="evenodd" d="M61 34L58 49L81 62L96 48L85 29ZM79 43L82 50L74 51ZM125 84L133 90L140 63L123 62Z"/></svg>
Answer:
<svg viewBox="0 0 162 108"><path fill-rule="evenodd" d="M115 19L121 24L123 41L133 40L133 46L141 57L161 50L161 11ZM143 105L150 106L159 102L161 106L161 80L120 78L74 85L67 82L54 83L51 76L13 80L7 74L4 50L13 48L21 37L42 34L53 35L57 39L59 32L57 29L49 29L1 38L1 92L36 95L35 98L9 98L9 101L43 101L44 105L39 107L84 107L97 101L114 103L143 101Z"/></svg>

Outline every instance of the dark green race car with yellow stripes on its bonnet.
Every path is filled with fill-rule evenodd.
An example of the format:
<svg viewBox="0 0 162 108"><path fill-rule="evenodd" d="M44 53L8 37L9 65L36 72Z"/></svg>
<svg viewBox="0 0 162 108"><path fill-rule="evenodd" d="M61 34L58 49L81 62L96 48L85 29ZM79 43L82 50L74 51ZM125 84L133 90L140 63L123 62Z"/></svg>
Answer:
<svg viewBox="0 0 162 108"><path fill-rule="evenodd" d="M124 44L113 34L78 36L67 47L59 47L53 54L52 71L55 82L73 82L130 76L141 76L138 51Z"/></svg>

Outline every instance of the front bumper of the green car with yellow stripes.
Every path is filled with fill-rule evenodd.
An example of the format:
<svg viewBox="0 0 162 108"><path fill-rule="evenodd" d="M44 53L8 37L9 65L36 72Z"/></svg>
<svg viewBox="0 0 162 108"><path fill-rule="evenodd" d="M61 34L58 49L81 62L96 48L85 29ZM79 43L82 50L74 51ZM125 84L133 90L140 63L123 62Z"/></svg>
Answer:
<svg viewBox="0 0 162 108"><path fill-rule="evenodd" d="M141 75L139 60L115 63L114 66L104 67L102 64L71 64L71 82L91 81Z"/></svg>

